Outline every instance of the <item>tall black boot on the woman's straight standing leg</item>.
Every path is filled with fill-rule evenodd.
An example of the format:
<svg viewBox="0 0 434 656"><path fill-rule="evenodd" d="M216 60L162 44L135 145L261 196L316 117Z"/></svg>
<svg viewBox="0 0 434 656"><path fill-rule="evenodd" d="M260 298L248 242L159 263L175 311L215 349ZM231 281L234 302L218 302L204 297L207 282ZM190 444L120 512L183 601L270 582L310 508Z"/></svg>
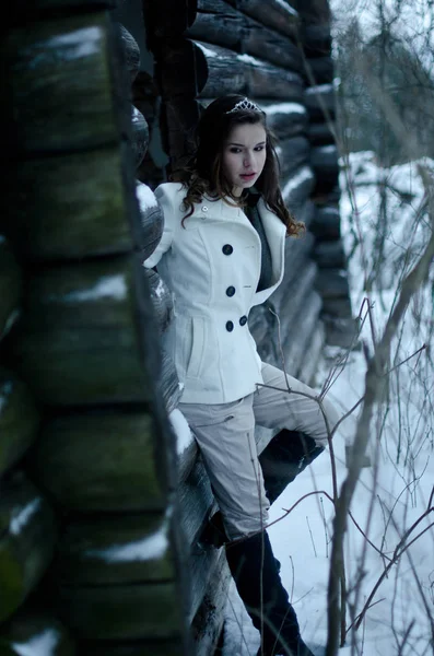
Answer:
<svg viewBox="0 0 434 656"><path fill-rule="evenodd" d="M314 656L300 636L267 532L226 544L226 558L238 594L261 633L258 655Z"/></svg>

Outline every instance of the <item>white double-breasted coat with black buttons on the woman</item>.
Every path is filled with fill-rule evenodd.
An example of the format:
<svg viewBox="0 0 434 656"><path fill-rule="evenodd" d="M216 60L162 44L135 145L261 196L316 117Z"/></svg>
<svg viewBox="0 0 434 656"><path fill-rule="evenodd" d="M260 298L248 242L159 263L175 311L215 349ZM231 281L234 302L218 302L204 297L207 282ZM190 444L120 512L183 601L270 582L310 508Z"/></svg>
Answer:
<svg viewBox="0 0 434 656"><path fill-rule="evenodd" d="M258 211L271 251L271 285L256 291L261 243L242 209L203 198L191 216L178 183L155 190L164 214L162 239L144 266L159 265L174 293L174 320L164 335L179 380L181 402L228 403L262 383L261 361L248 329L254 305L263 303L283 278L286 229L262 199Z"/></svg>

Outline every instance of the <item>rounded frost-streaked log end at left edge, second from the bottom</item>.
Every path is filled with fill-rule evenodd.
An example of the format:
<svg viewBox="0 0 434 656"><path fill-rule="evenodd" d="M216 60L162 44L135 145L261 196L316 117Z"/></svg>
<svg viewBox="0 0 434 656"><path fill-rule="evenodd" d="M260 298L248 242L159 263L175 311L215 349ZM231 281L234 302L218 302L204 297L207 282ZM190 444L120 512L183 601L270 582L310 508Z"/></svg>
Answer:
<svg viewBox="0 0 434 656"><path fill-rule="evenodd" d="M35 588L52 558L54 513L22 475L0 485L0 622Z"/></svg>

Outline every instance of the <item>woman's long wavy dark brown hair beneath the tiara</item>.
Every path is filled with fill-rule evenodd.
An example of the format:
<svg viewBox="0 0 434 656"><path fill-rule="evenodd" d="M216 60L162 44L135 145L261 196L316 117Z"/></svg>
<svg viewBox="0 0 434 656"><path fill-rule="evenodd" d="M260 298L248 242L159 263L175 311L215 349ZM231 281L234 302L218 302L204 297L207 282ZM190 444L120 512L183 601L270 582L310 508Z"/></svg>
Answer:
<svg viewBox="0 0 434 656"><path fill-rule="evenodd" d="M236 206L245 203L243 195L241 198L234 196L232 185L224 175L223 149L233 128L243 124L260 124L267 134L266 163L255 183L255 188L261 194L266 206L284 223L288 234L298 236L304 232L304 223L295 221L283 201L279 187L275 138L267 127L265 113L241 109L227 114L243 99L242 95L231 94L216 98L208 105L196 130L193 156L171 176L172 180L183 183L186 188L184 209L187 214L183 219L183 224L188 216L191 216L195 203L201 202L204 195L215 200L224 198Z"/></svg>

